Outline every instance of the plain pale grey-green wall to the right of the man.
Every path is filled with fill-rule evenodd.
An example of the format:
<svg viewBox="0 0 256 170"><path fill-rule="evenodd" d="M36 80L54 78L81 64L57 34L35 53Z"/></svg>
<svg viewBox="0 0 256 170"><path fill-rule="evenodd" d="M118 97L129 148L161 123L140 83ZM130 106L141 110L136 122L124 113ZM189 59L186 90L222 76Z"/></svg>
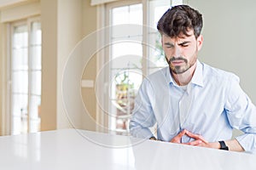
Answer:
<svg viewBox="0 0 256 170"><path fill-rule="evenodd" d="M256 1L189 0L203 14L204 37L199 59L232 71L256 104Z"/></svg>

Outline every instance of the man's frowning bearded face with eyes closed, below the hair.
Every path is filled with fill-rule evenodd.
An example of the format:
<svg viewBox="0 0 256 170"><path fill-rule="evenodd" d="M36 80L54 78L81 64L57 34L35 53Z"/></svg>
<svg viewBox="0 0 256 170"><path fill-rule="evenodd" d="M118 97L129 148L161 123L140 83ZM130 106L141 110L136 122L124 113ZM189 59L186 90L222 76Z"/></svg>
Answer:
<svg viewBox="0 0 256 170"><path fill-rule="evenodd" d="M162 46L166 54L166 61L171 71L175 74L182 74L195 65L198 51L201 49L202 37L195 39L193 31L188 32L189 37L168 37L162 35Z"/></svg>

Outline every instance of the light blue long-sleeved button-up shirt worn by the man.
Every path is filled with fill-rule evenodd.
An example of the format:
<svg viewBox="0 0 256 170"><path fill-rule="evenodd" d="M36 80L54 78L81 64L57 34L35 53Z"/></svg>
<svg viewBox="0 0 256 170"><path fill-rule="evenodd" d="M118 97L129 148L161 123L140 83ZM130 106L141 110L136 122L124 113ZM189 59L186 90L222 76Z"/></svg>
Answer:
<svg viewBox="0 0 256 170"><path fill-rule="evenodd" d="M256 151L256 107L243 92L233 73L197 60L187 89L177 86L169 67L143 80L135 100L130 130L137 138L153 136L149 127L157 123L157 138L170 141L183 129L201 134L209 142L227 140L233 128L244 150ZM182 142L192 141L183 136Z"/></svg>

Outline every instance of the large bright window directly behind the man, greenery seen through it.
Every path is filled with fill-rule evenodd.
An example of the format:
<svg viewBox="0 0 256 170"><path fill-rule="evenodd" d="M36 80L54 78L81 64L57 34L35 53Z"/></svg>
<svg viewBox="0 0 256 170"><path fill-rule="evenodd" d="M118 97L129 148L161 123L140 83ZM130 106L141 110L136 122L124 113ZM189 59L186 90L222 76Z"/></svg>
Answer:
<svg viewBox="0 0 256 170"><path fill-rule="evenodd" d="M181 3L172 1L174 5ZM108 70L105 71L105 82L109 82L105 110L110 132L129 134L134 99L143 77L166 66L156 25L170 7L170 0L133 0L107 5L106 25L110 26L110 32L106 38L108 67L104 69Z"/></svg>

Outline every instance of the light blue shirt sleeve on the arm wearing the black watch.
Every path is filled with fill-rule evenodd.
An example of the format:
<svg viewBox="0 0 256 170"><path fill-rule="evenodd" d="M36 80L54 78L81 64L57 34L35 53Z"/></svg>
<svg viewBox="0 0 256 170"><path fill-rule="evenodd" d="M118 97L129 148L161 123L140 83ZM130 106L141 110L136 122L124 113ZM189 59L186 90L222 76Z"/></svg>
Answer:
<svg viewBox="0 0 256 170"><path fill-rule="evenodd" d="M243 134L237 136L237 141L247 152L256 152L256 108L251 99L239 85L239 78L229 82L226 111L230 125L240 129Z"/></svg>

